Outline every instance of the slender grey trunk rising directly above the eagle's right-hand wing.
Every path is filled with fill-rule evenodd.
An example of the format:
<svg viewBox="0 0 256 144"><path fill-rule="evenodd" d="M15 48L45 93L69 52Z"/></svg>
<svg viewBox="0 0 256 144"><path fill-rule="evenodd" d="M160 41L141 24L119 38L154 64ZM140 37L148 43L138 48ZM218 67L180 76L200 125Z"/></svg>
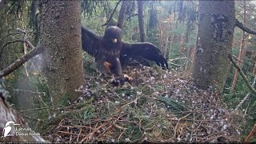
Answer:
<svg viewBox="0 0 256 144"><path fill-rule="evenodd" d="M143 20L143 1L138 1L138 26L141 42L145 42L145 30L144 30L144 20Z"/></svg>

